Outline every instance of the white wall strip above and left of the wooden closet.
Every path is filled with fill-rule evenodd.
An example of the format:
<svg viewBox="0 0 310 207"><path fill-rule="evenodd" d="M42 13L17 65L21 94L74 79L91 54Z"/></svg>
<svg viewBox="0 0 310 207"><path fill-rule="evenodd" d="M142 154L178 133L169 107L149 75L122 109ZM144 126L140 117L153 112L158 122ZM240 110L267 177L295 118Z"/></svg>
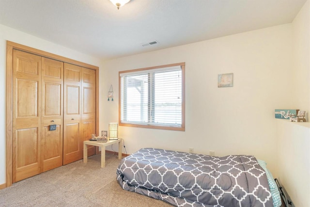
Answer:
<svg viewBox="0 0 310 207"><path fill-rule="evenodd" d="M30 34L14 30L12 28L0 25L0 184L6 182L5 178L5 99L6 99L6 41L12 41L18 44L29 46L31 48L41 49L66 58L77 60L83 63L101 66L101 61L89 55L77 52L75 50L56 45L46 40L34 37ZM77 43L78 44L78 43ZM100 71L100 70L99 70Z"/></svg>

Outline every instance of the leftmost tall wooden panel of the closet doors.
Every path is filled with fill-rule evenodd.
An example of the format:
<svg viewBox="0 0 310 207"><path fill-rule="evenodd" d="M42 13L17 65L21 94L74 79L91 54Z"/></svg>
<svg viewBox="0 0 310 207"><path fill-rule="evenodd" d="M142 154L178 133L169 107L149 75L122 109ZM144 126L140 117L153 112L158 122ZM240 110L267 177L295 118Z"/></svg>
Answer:
<svg viewBox="0 0 310 207"><path fill-rule="evenodd" d="M12 180L40 173L41 57L13 50Z"/></svg>

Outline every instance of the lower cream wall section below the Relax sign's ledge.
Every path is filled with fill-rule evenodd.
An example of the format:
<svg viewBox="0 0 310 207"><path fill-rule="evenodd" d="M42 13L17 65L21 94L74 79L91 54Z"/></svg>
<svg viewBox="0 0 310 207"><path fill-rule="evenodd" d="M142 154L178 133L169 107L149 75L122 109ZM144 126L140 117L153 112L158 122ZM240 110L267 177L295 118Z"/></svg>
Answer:
<svg viewBox="0 0 310 207"><path fill-rule="evenodd" d="M277 120L278 179L295 207L310 205L310 124Z"/></svg>

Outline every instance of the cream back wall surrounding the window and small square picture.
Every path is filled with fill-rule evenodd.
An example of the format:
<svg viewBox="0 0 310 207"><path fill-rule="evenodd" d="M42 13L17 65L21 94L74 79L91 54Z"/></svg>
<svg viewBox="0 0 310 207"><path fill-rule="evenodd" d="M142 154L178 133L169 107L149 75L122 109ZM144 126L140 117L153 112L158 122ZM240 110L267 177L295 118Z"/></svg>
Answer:
<svg viewBox="0 0 310 207"><path fill-rule="evenodd" d="M276 175L274 110L294 108L292 24L245 32L107 61L100 127L118 120L118 71L186 63L186 131L120 127L127 153L142 147L209 154L252 154ZM233 87L217 88L217 74L233 73ZM283 105L285 103L285 105ZM124 149L123 149L124 152Z"/></svg>

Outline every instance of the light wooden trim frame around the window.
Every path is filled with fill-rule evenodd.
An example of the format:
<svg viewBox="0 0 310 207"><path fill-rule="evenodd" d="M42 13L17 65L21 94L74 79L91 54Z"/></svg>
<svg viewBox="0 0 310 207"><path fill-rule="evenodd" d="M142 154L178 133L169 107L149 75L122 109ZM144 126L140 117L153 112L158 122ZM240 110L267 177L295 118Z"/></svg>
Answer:
<svg viewBox="0 0 310 207"><path fill-rule="evenodd" d="M182 124L181 127L167 127L167 126L155 126L155 125L139 125L139 124L126 124L121 123L121 75L122 73L130 73L137 71L144 71L150 69L164 68L164 67L172 67L172 66L181 66L182 68ZM138 127L138 128L153 128L153 129L164 129L164 130L176 130L176 131L185 131L185 63L176 63L176 64L166 64L159 65L153 67L145 67L133 70L119 71L119 107L118 107L118 123L119 126L124 127Z"/></svg>

